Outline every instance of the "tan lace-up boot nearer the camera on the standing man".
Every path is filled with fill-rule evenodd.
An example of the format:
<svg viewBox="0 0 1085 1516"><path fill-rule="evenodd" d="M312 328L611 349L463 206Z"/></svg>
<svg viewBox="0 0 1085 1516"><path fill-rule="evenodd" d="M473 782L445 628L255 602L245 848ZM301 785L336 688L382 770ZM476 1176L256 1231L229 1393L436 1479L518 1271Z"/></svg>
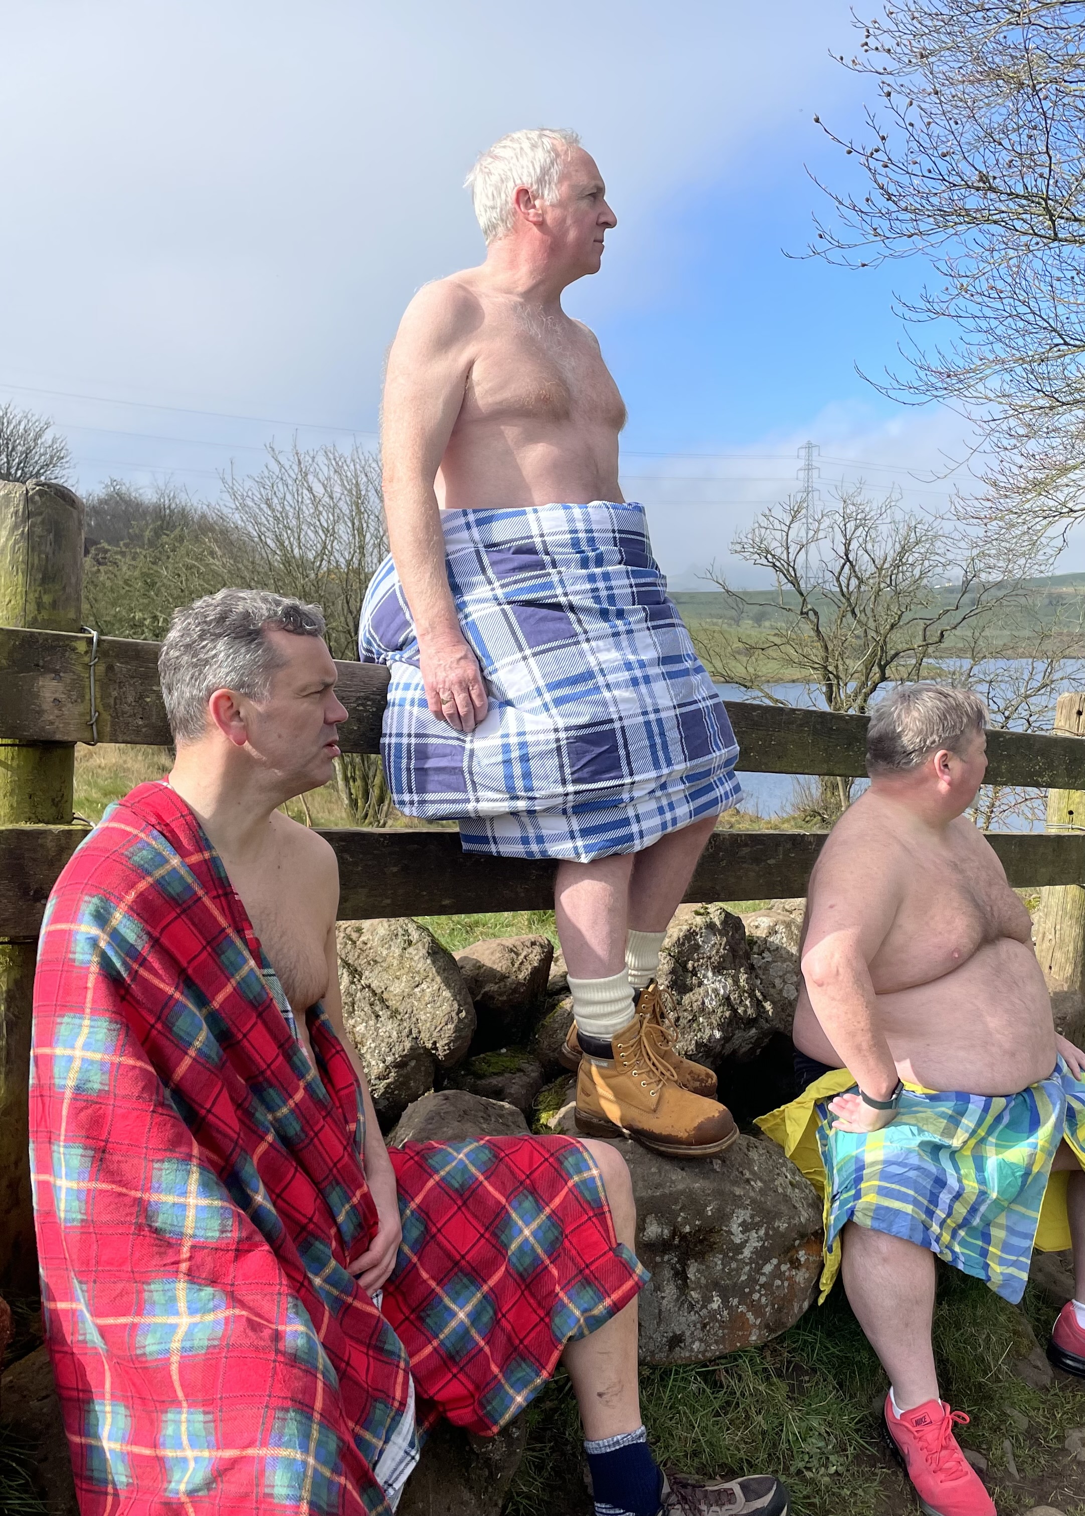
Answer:
<svg viewBox="0 0 1085 1516"><path fill-rule="evenodd" d="M638 1016L612 1037L580 1037L576 1129L635 1137L671 1158L709 1158L738 1137L726 1105L683 1090L641 1029Z"/></svg>

